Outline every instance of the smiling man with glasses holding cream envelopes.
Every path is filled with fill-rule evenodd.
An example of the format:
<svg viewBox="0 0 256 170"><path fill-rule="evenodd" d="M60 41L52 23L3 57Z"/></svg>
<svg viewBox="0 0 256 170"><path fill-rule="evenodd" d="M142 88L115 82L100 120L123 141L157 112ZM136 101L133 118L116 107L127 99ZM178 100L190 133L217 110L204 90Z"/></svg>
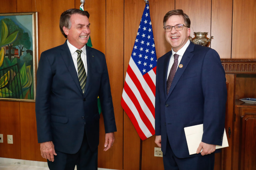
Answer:
<svg viewBox="0 0 256 170"><path fill-rule="evenodd" d="M167 12L163 22L172 50L157 60L155 143L165 169L214 169L224 132L225 71L215 50L189 41L190 19L182 10ZM197 154L189 155L184 127L198 124L202 140Z"/></svg>

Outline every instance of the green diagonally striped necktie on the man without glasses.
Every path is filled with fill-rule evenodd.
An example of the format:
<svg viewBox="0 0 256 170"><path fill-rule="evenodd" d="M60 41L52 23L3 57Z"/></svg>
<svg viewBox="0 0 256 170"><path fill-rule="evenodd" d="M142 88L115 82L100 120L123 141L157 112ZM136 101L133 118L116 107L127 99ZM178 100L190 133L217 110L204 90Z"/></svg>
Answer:
<svg viewBox="0 0 256 170"><path fill-rule="evenodd" d="M80 83L80 86L81 86L83 94L84 94L84 87L85 87L85 84L86 84L87 75L86 75L86 72L85 72L85 69L84 69L83 61L81 59L82 50L78 49L78 50L76 50L76 52L77 52L78 79L79 79L79 83Z"/></svg>

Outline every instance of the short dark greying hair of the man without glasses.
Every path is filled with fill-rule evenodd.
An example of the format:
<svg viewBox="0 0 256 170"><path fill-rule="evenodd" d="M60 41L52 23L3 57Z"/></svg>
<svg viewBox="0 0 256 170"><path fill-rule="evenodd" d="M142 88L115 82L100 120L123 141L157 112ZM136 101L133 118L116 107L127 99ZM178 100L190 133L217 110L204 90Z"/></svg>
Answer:
<svg viewBox="0 0 256 170"><path fill-rule="evenodd" d="M63 27L66 27L68 29L71 28L70 17L73 14L81 14L81 15L87 16L88 19L90 16L90 14L87 11L82 11L80 9L75 9L75 8L64 11L60 16L60 31L65 36L65 38L67 38L67 35L63 31Z"/></svg>

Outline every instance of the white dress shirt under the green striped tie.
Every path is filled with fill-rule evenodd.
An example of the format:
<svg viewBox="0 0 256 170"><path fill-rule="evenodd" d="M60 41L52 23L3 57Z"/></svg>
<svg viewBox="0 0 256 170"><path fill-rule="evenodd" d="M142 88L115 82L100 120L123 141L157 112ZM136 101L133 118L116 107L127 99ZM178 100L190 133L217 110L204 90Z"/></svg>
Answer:
<svg viewBox="0 0 256 170"><path fill-rule="evenodd" d="M68 44L68 48L71 53L71 56L72 56L72 59L73 59L73 62L74 62L74 65L75 65L75 68L77 71L77 52L76 52L77 48L74 47L72 44L70 44L68 41L67 41L67 44ZM83 48L81 48L80 50L82 50L81 59L83 61L85 72L87 74L86 45L83 46ZM77 75L78 75L78 71L77 71Z"/></svg>

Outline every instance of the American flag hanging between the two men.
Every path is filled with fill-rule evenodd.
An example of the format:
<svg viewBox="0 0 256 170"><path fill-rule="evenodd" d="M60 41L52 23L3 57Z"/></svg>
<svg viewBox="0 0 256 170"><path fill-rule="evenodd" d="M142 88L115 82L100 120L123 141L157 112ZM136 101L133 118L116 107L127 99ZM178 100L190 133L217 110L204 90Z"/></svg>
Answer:
<svg viewBox="0 0 256 170"><path fill-rule="evenodd" d="M145 5L127 68L121 105L142 140L155 134L156 50Z"/></svg>

